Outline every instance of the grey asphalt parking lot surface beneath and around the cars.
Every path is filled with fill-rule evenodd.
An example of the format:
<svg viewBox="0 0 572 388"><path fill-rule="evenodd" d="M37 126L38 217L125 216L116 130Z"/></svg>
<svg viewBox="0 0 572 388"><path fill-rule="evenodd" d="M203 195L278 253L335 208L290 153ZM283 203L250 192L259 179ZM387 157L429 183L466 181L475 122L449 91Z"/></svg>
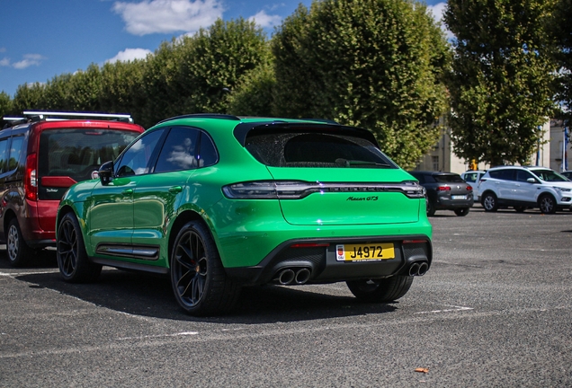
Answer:
<svg viewBox="0 0 572 388"><path fill-rule="evenodd" d="M207 319L165 278L69 285L53 251L0 251L0 386L571 386L572 212L430 219L433 266L395 303L256 287Z"/></svg>

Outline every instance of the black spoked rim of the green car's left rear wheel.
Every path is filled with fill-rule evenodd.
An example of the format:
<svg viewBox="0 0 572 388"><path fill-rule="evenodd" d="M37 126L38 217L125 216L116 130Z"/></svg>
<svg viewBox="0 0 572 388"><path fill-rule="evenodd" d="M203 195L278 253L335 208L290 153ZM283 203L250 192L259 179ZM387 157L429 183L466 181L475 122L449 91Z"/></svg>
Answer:
<svg viewBox="0 0 572 388"><path fill-rule="evenodd" d="M207 283L207 254L201 236L192 231L181 236L174 251L174 287L183 304L201 302Z"/></svg>

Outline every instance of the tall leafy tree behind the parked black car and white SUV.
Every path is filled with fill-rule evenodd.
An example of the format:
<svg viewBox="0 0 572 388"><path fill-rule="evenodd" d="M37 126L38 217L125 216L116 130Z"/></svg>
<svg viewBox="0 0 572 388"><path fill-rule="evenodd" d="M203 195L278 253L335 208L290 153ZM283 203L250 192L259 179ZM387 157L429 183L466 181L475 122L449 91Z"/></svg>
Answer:
<svg viewBox="0 0 572 388"><path fill-rule="evenodd" d="M453 150L492 165L527 163L554 110L545 23L555 0L449 0L447 76Z"/></svg>

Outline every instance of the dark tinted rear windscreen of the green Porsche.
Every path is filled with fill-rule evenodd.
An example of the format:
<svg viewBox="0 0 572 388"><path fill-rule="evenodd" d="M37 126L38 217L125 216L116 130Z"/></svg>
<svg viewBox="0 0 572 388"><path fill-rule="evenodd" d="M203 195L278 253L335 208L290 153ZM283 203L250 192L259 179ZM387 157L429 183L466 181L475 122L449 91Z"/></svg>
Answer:
<svg viewBox="0 0 572 388"><path fill-rule="evenodd" d="M273 167L398 168L368 140L332 133L258 131L246 137L246 149Z"/></svg>

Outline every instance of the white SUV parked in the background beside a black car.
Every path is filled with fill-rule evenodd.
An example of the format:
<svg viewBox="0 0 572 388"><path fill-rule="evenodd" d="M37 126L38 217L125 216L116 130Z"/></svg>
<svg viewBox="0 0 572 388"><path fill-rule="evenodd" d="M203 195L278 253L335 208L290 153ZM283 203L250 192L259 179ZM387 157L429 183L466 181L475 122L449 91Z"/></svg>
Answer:
<svg viewBox="0 0 572 388"><path fill-rule="evenodd" d="M540 207L545 214L572 210L572 181L546 167L503 166L487 171L478 185L486 211L514 207L523 212Z"/></svg>

